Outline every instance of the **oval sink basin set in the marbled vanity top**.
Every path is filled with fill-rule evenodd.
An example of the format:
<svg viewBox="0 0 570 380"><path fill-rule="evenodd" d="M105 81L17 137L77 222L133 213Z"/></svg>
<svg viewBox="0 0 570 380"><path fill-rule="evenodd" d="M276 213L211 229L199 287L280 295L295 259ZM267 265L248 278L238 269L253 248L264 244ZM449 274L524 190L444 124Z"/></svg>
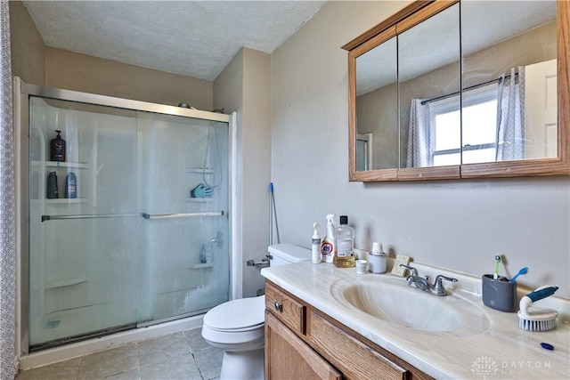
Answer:
<svg viewBox="0 0 570 380"><path fill-rule="evenodd" d="M419 331L465 336L490 327L485 311L475 303L458 295L431 295L408 287L403 279L372 275L338 279L330 292L352 310Z"/></svg>

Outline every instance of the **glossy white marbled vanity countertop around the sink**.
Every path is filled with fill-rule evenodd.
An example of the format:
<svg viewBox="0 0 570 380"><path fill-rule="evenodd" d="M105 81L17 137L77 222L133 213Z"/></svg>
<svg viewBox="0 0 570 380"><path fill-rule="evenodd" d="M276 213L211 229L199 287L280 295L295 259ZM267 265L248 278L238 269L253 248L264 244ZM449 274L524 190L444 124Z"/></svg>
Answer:
<svg viewBox="0 0 570 380"><path fill-rule="evenodd" d="M357 275L354 268L338 269L330 263L309 261L264 268L261 274L429 376L438 379L570 378L570 323L567 321L570 303L567 300L550 296L539 301L536 306L552 308L555 305L560 313L557 327L546 332L528 332L518 327L516 312L496 311L483 304L479 279L417 263L413 266L422 276L436 272L459 278L458 285L452 289L453 295L447 296L459 296L480 308L490 321L485 324L485 331L475 334L419 331L372 317L338 302L331 294L333 284L350 277L389 282L401 280L403 287L407 287L405 279L391 274ZM426 272L430 268L432 272ZM449 285L445 284L446 287ZM402 308L405 307L402 304ZM543 349L542 342L552 344L554 351Z"/></svg>

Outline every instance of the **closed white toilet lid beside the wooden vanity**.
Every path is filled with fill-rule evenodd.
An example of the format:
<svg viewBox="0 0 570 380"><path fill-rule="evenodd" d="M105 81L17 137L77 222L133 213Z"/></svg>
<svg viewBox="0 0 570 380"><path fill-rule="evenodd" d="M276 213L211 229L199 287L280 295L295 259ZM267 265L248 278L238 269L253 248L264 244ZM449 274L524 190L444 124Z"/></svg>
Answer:
<svg viewBox="0 0 570 380"><path fill-rule="evenodd" d="M217 305L204 316L204 324L215 329L235 330L264 323L265 295L240 298Z"/></svg>

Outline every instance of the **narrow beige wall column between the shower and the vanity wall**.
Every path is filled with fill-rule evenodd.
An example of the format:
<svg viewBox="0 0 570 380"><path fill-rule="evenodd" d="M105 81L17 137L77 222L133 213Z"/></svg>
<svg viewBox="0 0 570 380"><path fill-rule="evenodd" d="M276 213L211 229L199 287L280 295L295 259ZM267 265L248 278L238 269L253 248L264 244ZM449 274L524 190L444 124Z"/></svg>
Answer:
<svg viewBox="0 0 570 380"><path fill-rule="evenodd" d="M238 206L243 295L264 287L259 268L247 259L261 260L269 244L271 181L271 55L243 48L214 82L214 106L238 114Z"/></svg>

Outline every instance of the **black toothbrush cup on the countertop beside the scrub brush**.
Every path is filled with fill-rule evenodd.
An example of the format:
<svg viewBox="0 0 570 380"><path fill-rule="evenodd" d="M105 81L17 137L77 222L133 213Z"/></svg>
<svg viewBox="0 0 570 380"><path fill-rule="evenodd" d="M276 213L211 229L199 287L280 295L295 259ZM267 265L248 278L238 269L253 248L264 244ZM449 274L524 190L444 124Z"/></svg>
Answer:
<svg viewBox="0 0 570 380"><path fill-rule="evenodd" d="M483 275L483 303L499 311L517 311L517 282L506 277L493 279L493 274Z"/></svg>

